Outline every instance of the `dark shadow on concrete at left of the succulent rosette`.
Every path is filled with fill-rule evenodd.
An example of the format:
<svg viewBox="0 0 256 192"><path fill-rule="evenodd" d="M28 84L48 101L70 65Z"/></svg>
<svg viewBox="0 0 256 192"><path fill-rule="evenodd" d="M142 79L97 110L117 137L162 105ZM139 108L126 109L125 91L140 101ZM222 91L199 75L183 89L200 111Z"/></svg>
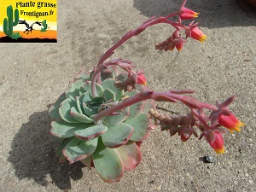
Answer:
<svg viewBox="0 0 256 192"><path fill-rule="evenodd" d="M81 169L84 165L80 162L73 165L59 163L55 147L49 141L51 121L48 111L33 113L15 135L8 160L20 180L28 177L43 186L52 183L59 189L71 189L70 179L83 177Z"/></svg>

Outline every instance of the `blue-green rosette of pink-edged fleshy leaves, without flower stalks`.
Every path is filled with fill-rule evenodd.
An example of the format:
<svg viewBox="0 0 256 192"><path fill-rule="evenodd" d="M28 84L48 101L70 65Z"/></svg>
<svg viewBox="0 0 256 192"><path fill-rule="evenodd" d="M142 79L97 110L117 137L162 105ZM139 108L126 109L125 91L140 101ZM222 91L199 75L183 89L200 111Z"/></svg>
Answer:
<svg viewBox="0 0 256 192"><path fill-rule="evenodd" d="M96 84L97 96L91 95L91 74L80 72L51 105L49 114L57 119L51 123L50 134L61 141L56 149L59 160L70 164L80 160L85 166L94 166L105 182L112 183L141 162L137 143L148 136L152 126L148 111L154 108L154 101L137 102L95 125L93 119L101 110L145 90L140 84L131 92L119 90L114 85L117 71L109 68L101 73L102 84Z"/></svg>

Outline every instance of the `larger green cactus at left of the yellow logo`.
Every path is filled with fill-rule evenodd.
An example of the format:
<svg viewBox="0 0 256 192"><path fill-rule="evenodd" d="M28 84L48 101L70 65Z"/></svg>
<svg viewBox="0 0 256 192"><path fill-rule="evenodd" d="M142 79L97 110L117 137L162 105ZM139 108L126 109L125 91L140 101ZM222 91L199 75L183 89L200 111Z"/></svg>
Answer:
<svg viewBox="0 0 256 192"><path fill-rule="evenodd" d="M13 27L19 23L19 10L15 9L15 21L13 21L13 6L7 7L7 17L3 20L3 32L11 38L13 36Z"/></svg>

